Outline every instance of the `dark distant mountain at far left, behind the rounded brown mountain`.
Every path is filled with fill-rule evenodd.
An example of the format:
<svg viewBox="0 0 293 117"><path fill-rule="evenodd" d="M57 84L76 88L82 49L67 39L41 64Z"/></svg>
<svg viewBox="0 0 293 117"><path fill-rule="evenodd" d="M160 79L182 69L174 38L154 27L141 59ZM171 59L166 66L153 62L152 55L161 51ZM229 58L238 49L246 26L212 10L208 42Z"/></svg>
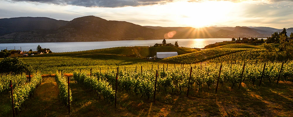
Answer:
<svg viewBox="0 0 293 117"><path fill-rule="evenodd" d="M45 17L3 18L0 19L0 35L30 30L52 30L68 22Z"/></svg>

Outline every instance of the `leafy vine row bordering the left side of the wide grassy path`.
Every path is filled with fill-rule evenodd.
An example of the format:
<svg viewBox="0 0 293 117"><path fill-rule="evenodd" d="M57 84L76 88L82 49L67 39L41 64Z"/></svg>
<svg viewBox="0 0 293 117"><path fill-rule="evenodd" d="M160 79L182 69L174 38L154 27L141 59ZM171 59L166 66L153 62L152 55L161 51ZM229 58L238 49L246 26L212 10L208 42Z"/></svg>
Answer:
<svg viewBox="0 0 293 117"><path fill-rule="evenodd" d="M21 104L29 98L29 95L33 93L35 88L38 87L41 82L41 74L37 73L33 75L30 82L16 86L13 89L14 108L21 110Z"/></svg>

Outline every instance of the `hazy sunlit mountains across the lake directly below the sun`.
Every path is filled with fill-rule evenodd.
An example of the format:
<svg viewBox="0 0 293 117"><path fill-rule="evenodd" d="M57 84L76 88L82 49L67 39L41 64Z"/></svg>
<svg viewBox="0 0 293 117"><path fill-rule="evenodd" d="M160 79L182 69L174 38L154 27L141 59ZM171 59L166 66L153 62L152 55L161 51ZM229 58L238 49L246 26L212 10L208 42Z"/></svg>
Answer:
<svg viewBox="0 0 293 117"><path fill-rule="evenodd" d="M238 37L260 37L265 38L274 33L273 31L265 31L250 27L202 27L202 28L193 28L193 27L154 27L154 26L145 26L148 28L153 28L156 30L168 29L179 31L174 38L238 38Z"/></svg>

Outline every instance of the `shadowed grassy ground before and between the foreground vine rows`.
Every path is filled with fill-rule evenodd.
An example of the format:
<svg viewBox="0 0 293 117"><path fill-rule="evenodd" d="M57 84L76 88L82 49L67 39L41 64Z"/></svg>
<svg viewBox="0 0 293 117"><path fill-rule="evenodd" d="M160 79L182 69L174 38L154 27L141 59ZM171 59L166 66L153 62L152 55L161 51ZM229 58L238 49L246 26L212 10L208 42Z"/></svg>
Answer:
<svg viewBox="0 0 293 117"><path fill-rule="evenodd" d="M240 90L225 84L219 85L218 93L214 92L215 86L208 91L206 85L201 90L194 85L189 97L186 97L186 89L178 94L167 88L166 92L158 90L155 103L152 98L118 90L116 109L113 102L99 99L83 85L71 82L71 116L293 116L293 83L290 81L277 85L265 80L261 87L244 82ZM44 78L18 116L66 116L67 112L58 98L54 78Z"/></svg>

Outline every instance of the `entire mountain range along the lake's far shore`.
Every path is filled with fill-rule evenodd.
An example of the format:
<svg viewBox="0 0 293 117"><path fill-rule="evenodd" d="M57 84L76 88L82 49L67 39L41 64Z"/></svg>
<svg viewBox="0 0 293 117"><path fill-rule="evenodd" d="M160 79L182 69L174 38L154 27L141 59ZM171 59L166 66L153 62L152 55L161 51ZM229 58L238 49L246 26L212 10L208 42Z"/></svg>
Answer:
<svg viewBox="0 0 293 117"><path fill-rule="evenodd" d="M282 29L271 27L155 27L84 16L71 21L45 17L0 19L0 43L81 42L188 38L266 38ZM172 32L173 37L166 36ZM293 28L287 29L290 35ZM288 35L287 34L287 35Z"/></svg>

